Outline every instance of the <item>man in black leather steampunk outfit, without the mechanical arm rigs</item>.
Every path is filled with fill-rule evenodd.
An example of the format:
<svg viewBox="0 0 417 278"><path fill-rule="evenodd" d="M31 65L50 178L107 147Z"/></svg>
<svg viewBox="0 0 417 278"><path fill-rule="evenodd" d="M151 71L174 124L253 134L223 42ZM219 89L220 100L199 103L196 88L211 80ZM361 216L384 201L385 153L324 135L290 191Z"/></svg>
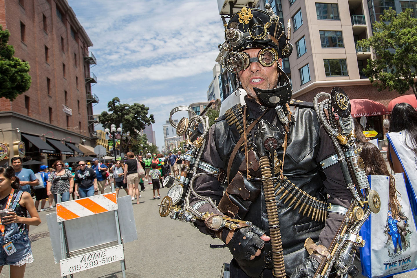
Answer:
<svg viewBox="0 0 417 278"><path fill-rule="evenodd" d="M202 213L252 223L234 231L195 223L230 249L231 278L274 277L273 268L275 277L312 277L319 253L330 245L352 195L337 161L326 160L336 152L313 104L290 100L282 57L291 54L292 45L278 18L269 6L266 9L269 12L242 8L226 27L221 58L226 69L236 73L238 88L246 90L246 105L235 105L216 120L201 158L224 169L225 194L220 176L199 176L194 186L198 194L216 200L220 211L198 199L191 205ZM277 140L263 140L266 133ZM268 184L262 177L271 176L270 164L265 164L271 160L272 175L280 179ZM321 245L307 252L307 238Z"/></svg>

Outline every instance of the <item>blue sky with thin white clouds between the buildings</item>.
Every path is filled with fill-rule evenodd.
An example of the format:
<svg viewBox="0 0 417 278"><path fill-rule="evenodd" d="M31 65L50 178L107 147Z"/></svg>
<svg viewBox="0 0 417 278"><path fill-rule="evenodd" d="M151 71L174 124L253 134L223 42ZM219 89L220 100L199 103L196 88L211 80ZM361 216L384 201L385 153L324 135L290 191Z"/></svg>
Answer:
<svg viewBox="0 0 417 278"><path fill-rule="evenodd" d="M206 101L224 27L215 0L68 0L93 42L92 92L107 110L114 97L143 103L155 117L153 130L163 145L162 125L178 105ZM181 118L186 113L177 113ZM178 116L178 117L177 117Z"/></svg>

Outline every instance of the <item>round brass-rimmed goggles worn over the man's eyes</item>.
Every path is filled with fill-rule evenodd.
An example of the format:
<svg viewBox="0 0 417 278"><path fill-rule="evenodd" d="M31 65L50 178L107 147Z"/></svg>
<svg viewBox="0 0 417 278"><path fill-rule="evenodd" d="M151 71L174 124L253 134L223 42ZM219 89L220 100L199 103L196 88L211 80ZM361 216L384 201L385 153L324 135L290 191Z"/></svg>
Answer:
<svg viewBox="0 0 417 278"><path fill-rule="evenodd" d="M250 63L259 62L264 67L274 65L278 60L278 52L275 48L264 48L259 51L258 57L251 58L246 52L230 52L224 58L224 65L231 73L238 73L241 70L246 70Z"/></svg>

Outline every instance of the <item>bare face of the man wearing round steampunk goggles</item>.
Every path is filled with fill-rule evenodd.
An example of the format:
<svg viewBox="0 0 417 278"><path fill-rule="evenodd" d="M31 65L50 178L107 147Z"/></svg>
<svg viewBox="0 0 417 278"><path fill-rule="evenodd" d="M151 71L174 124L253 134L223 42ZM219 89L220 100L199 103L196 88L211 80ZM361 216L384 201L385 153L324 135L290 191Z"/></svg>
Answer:
<svg viewBox="0 0 417 278"><path fill-rule="evenodd" d="M246 49L244 52L248 53L251 58L257 58L259 51L262 48ZM278 63L282 63L281 58ZM278 70L275 62L270 67L264 67L259 62L252 62L246 70L241 70L238 75L242 87L246 90L249 96L258 99L254 92L254 87L264 90L275 88L278 84Z"/></svg>

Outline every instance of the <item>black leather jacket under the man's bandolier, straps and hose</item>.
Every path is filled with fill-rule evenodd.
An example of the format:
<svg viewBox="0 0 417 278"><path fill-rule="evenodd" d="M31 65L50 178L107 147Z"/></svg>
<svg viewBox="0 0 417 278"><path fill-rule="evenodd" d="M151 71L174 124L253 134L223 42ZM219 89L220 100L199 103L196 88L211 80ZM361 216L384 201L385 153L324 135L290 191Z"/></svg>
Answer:
<svg viewBox="0 0 417 278"><path fill-rule="evenodd" d="M248 103L249 107L249 121L259 117L259 115L263 113L260 109L256 110L256 108L260 107L257 103L253 103L253 101L248 99L246 99L246 103ZM340 180L341 175L335 174L338 170L340 171L339 165L334 165L331 167L333 170L324 172L319 168L319 161L334 154L334 148L329 137L323 130L320 130L319 120L317 119L315 111L305 106L292 106L291 110L293 111L292 115L295 122L290 126L290 136L284 160L284 175L301 190L306 191L318 200L325 201L327 199L325 197L327 196L326 193L330 191L332 203L348 206L349 200L352 197L346 189L344 181ZM274 121L276 123L276 113L273 109L267 110L263 118L267 119L270 123L273 123ZM255 127L254 130L256 129L257 128ZM325 142L321 141L322 137L324 137L323 139ZM229 126L226 123L226 120L224 120L224 116L220 117L218 122L211 127L208 145L202 159L215 167L227 169L230 154L239 138L240 135L237 132L236 127L234 125ZM325 150L323 146L326 146ZM280 149L278 151L278 158L282 159L282 155L283 150ZM230 180L236 175L239 166L244 159L244 152L239 151L231 167ZM257 154L256 159L259 160ZM258 172L259 171L260 170L258 170ZM257 174L260 176L260 173ZM326 174L330 174L332 177L330 179L325 178ZM326 187L323 179L327 180ZM254 182L254 185L258 188L262 188L261 182ZM195 183L196 191L199 194L215 198L217 203L219 203L219 197L221 197L223 189L216 189L218 186L218 182L216 183L215 180L208 177L200 178ZM332 194L332 190L329 187L337 190L337 194ZM281 194L276 197L277 201ZM286 273L291 274L294 269L303 262L307 255L304 250L304 241L306 238L311 237L315 242L318 242L319 236L321 236L320 233L324 228L324 223L313 221L307 218L306 215L302 216L302 214L298 213L298 209L293 210L292 207L288 208L287 204L288 203L283 204L283 201L281 201L281 206L279 207L279 222L281 225L281 238L284 249ZM206 207L200 208L201 212L203 212L203 210L210 211L211 209ZM266 216L265 199L263 198L263 194L259 194L256 201L249 206L249 210L244 216L244 220L249 220L259 228L266 230L266 234L269 235L269 224ZM334 236L333 230L337 230L338 228L337 223L339 223L339 217L336 216L334 220L335 221L330 221L333 225L330 229L327 229L327 235L325 235L326 240L322 240L326 241L324 244L330 243ZM203 233L213 235L211 231L204 229L202 225L197 224L197 226L199 226ZM264 268L272 267L271 263L267 264L264 261L265 255L267 255L270 250L271 244L267 242L262 249L260 256L257 256L254 260L242 260L237 263L249 277L259 277Z"/></svg>

